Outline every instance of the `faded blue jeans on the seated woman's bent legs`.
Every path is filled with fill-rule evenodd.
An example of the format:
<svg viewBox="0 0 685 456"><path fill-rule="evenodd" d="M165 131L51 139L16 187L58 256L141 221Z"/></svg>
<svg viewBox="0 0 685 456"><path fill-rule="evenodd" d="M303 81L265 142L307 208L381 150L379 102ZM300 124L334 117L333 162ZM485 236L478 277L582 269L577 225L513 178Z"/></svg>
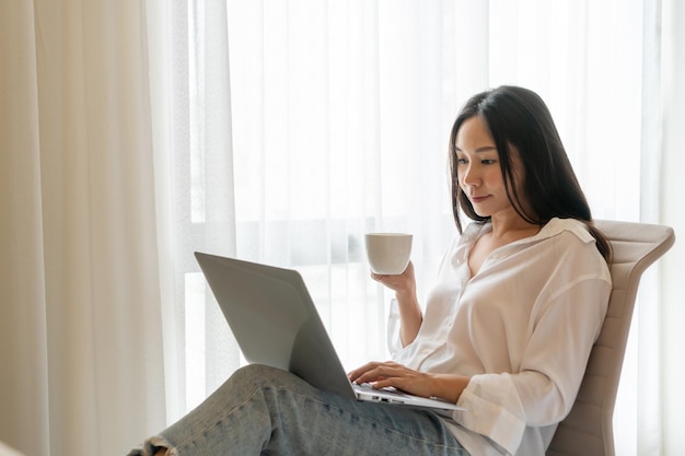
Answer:
<svg viewBox="0 0 685 456"><path fill-rule="evenodd" d="M262 365L235 372L200 406L129 456L468 456L428 410L360 402Z"/></svg>

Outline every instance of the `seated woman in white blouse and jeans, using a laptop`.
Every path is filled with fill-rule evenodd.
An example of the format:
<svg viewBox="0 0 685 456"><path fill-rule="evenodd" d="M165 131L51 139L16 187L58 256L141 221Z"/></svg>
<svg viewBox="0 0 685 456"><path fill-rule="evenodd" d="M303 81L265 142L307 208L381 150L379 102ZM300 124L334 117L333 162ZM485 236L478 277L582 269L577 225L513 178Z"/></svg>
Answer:
<svg viewBox="0 0 685 456"><path fill-rule="evenodd" d="M237 371L155 455L544 455L569 412L608 302L609 246L544 102L501 86L469 100L450 137L460 236L421 311L411 264L395 292L392 362L351 381L467 411L358 402L265 366ZM462 230L462 213L472 223Z"/></svg>

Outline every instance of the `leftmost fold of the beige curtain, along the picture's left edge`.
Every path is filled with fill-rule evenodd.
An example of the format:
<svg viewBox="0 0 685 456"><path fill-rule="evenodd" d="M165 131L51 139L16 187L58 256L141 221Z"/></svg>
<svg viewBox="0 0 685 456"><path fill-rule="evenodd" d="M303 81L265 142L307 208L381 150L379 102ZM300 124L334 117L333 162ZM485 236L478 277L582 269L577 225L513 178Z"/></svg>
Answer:
<svg viewBox="0 0 685 456"><path fill-rule="evenodd" d="M0 3L0 441L48 453L34 8Z"/></svg>

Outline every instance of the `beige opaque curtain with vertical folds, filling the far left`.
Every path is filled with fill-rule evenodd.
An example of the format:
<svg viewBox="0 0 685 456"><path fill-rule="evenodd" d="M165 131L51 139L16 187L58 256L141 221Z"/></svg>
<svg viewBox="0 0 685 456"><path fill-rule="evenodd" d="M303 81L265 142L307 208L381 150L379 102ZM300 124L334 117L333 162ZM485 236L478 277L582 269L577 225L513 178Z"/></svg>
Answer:
<svg viewBox="0 0 685 456"><path fill-rule="evenodd" d="M137 1L0 2L0 441L123 454L164 424Z"/></svg>

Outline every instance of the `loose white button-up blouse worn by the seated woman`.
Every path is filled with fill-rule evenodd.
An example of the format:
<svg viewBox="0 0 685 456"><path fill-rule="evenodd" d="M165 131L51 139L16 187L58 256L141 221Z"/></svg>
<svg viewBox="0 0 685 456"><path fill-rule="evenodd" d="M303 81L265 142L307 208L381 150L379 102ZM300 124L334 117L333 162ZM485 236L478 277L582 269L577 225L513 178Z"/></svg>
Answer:
<svg viewBox="0 0 685 456"><path fill-rule="evenodd" d="M583 223L553 219L494 250L471 277L468 253L490 229L472 223L454 241L405 348L393 302L391 353L418 371L471 376L457 402L468 411L444 419L472 455L544 456L576 399L611 276Z"/></svg>

